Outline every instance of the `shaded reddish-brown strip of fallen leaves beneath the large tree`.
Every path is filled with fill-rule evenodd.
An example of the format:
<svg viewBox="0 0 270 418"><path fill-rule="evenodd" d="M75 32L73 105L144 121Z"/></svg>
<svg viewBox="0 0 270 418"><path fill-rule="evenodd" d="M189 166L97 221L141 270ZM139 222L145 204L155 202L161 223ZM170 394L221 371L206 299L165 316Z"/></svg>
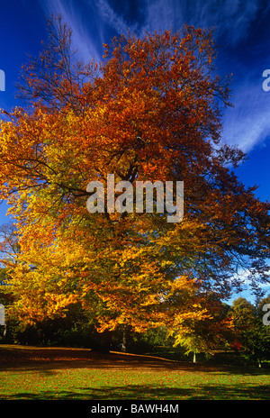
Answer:
<svg viewBox="0 0 270 418"><path fill-rule="evenodd" d="M18 370L36 372L44 376L56 375L60 369L152 370L182 373L218 373L219 375L270 375L270 368L237 367L215 364L193 364L137 354L113 352L104 354L94 350L65 348L36 348L0 346L0 372Z"/></svg>

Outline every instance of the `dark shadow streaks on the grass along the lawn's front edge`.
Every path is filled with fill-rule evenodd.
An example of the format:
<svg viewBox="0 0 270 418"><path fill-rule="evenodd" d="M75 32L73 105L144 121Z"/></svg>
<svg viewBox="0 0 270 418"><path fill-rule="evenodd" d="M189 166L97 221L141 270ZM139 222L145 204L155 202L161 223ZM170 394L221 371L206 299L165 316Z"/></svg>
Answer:
<svg viewBox="0 0 270 418"><path fill-rule="evenodd" d="M269 397L270 386L267 385L198 385L193 388L130 385L47 390L38 394L22 392L1 397L1 400L266 400Z"/></svg>

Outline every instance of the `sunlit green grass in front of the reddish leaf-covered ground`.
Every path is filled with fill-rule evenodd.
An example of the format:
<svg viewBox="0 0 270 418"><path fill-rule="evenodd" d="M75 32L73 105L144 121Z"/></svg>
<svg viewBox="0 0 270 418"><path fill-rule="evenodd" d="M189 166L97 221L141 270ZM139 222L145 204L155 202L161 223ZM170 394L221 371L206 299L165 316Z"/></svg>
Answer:
<svg viewBox="0 0 270 418"><path fill-rule="evenodd" d="M0 399L267 399L269 376L178 371L5 371Z"/></svg>

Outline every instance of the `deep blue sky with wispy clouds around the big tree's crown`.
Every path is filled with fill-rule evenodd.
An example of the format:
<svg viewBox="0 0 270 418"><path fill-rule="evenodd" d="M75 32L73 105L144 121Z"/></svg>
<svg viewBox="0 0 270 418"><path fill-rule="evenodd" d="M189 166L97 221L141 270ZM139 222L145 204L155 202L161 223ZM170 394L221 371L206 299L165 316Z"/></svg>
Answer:
<svg viewBox="0 0 270 418"><path fill-rule="evenodd" d="M103 42L129 30L177 30L184 23L215 28L216 65L233 74L232 102L223 116L222 140L247 152L238 168L241 181L257 184L257 196L270 200L270 91L262 88L270 68L270 2L266 0L0 0L0 69L5 91L0 107L18 104L14 82L27 54L35 55L46 39L46 15L62 14L73 29L78 58L102 59ZM0 206L0 222L5 222Z"/></svg>

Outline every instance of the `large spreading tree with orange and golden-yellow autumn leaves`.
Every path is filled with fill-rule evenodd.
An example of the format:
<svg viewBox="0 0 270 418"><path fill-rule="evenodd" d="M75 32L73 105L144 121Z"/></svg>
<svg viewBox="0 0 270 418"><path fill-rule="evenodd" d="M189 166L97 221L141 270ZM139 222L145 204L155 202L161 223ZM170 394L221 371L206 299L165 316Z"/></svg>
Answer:
<svg viewBox="0 0 270 418"><path fill-rule="evenodd" d="M269 205L232 171L243 152L220 141L229 78L213 66L212 32L184 26L104 49L101 63L76 62L71 30L51 19L18 85L27 104L4 112L0 193L20 246L13 312L42 321L79 301L101 331L206 321L214 332L213 294L238 288L238 271L252 286L267 279ZM89 214L87 184L106 188L108 174L184 181L184 219L106 204Z"/></svg>

